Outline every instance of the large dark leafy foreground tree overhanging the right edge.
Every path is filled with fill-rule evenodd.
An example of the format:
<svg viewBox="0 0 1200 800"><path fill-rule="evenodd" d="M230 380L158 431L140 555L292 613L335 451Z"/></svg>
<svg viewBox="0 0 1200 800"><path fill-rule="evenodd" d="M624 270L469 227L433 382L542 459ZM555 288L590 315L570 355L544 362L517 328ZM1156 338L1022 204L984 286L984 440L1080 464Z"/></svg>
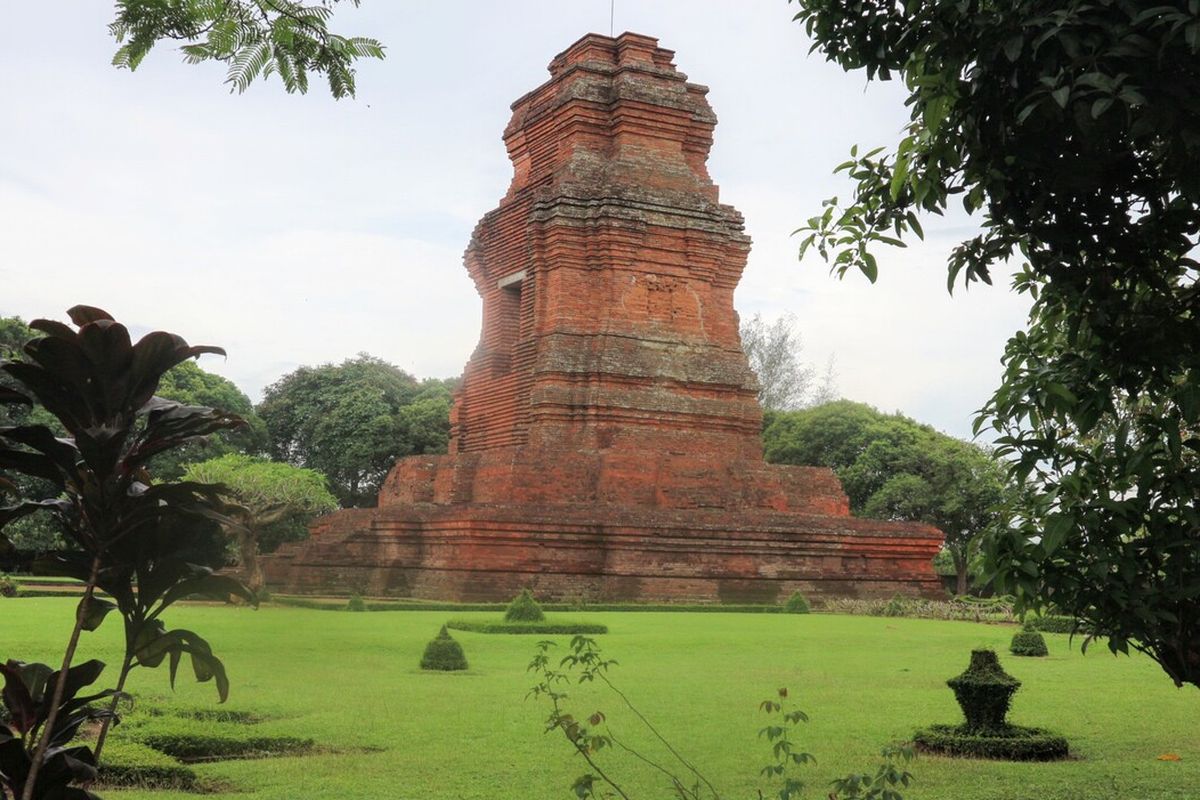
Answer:
<svg viewBox="0 0 1200 800"><path fill-rule="evenodd" d="M952 201L982 230L948 285L1020 255L1032 299L982 425L1031 498L989 563L1114 652L1200 686L1200 2L797 0L818 49L904 79L896 146L851 158L803 248L874 279L872 248Z"/></svg>

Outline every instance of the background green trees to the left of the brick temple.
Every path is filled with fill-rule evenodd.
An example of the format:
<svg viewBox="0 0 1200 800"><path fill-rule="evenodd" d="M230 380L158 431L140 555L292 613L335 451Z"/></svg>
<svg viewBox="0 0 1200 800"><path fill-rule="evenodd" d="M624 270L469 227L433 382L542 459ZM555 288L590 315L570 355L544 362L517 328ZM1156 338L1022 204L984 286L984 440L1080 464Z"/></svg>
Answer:
<svg viewBox="0 0 1200 800"><path fill-rule="evenodd" d="M17 317L0 318L0 361L22 359L40 336ZM262 587L259 552L307 536L318 513L338 506L372 505L379 483L397 458L445 452L450 401L456 379L418 380L380 359L360 354L340 365L300 367L269 386L257 407L233 381L184 361L163 377L158 396L192 407L238 414L244 427L155 456L148 471L157 481L220 482L245 513L232 517L224 552L210 561L246 567L251 588ZM0 373L0 386L17 389ZM0 408L0 426L61 426L35 405ZM18 491L40 497L50 487L13 476ZM6 534L25 557L67 547L50 515L30 515Z"/></svg>

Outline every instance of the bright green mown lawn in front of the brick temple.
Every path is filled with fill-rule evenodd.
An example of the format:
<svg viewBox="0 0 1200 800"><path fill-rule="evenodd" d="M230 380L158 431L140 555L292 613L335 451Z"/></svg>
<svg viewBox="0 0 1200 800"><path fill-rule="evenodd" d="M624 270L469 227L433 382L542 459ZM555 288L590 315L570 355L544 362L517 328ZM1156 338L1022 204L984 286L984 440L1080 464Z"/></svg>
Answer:
<svg viewBox="0 0 1200 800"><path fill-rule="evenodd" d="M60 657L73 601L0 600L0 657ZM472 619L494 615L454 614ZM564 614L566 615L566 614ZM300 608L258 612L178 607L174 626L209 637L228 666L233 692L216 705L211 685L181 669L175 692L164 669L136 674L139 712L118 729L196 730L316 740L302 757L230 760L194 769L226 790L210 800L540 800L571 796L583 771L565 741L542 733L545 709L526 700L524 668L538 636L456 632L470 670L430 674L416 668L445 612L330 613ZM605 655L620 666L613 679L727 800L756 798L767 747L757 739L758 703L791 690L811 722L803 744L817 758L805 768L808 796L828 782L871 769L878 748L929 722L955 722L946 679L968 651L994 646L1025 686L1014 722L1054 728L1078 758L1052 764L1004 764L923 757L907 800L1140 800L1200 796L1200 694L1176 690L1144 658L1087 656L1066 636L1048 634L1049 658L1004 657L1013 628L888 618L782 614L590 613L602 622ZM119 626L84 634L84 657L115 663ZM553 637L565 645L568 637ZM572 694L575 710L604 710L613 730L646 742L619 702L593 687ZM258 724L154 717L148 709L229 708L265 717ZM653 750L653 748L652 748ZM659 751L654 751L659 754ZM1176 753L1182 760L1160 762ZM668 796L648 768L604 753L642 800ZM766 788L766 787L764 787ZM106 798L184 798L170 792L114 790ZM198 795L196 795L198 796Z"/></svg>

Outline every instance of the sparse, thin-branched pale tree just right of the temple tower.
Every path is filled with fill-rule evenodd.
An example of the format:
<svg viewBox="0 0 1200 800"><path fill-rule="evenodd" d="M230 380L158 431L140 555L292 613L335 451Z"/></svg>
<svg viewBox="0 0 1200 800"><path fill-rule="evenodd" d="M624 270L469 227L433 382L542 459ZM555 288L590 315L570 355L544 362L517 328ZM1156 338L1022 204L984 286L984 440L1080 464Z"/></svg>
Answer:
<svg viewBox="0 0 1200 800"><path fill-rule="evenodd" d="M816 368L800 360L804 344L791 314L767 323L755 314L738 329L750 369L758 378L758 404L768 411L820 405L836 398L830 361L821 383Z"/></svg>

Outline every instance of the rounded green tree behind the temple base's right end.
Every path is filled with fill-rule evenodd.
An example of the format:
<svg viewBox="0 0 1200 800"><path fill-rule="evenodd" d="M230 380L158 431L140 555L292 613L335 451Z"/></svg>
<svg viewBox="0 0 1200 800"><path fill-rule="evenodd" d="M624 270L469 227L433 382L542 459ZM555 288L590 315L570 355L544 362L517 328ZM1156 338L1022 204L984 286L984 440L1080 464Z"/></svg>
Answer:
<svg viewBox="0 0 1200 800"><path fill-rule="evenodd" d="M775 415L763 443L768 461L832 468L854 513L940 528L959 594L968 589L979 536L1007 519L1009 489L988 451L900 414L839 401Z"/></svg>

